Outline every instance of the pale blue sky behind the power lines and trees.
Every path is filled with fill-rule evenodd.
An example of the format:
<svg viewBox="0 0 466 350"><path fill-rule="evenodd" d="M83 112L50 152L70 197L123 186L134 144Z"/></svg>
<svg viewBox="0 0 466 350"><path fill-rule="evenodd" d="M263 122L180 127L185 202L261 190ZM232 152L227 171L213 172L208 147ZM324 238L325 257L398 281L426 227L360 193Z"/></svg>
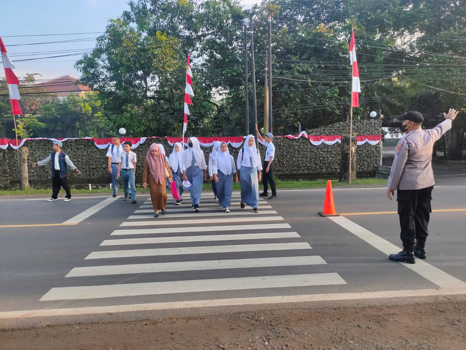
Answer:
<svg viewBox="0 0 466 350"><path fill-rule="evenodd" d="M107 21L128 10L129 0L17 0L2 3L0 13L0 36L13 61L17 77L26 73L39 73L38 81L45 81L64 75L80 77L73 66L83 52L90 52L95 39L105 30ZM240 0L243 7L251 7L257 0ZM25 11L27 9L27 11ZM30 19L28 19L31 16ZM47 35L69 33L96 33L82 35ZM27 35L27 36L14 36ZM75 42L59 42L63 40ZM41 44L41 42L55 42ZM46 51L78 50L75 56ZM41 52L39 54L38 52ZM75 52L73 52L75 54ZM40 59L38 59L40 58ZM34 59L34 60L31 60ZM23 60L23 61L21 61ZM16 61L16 62L15 62ZM0 70L0 77L4 77Z"/></svg>

